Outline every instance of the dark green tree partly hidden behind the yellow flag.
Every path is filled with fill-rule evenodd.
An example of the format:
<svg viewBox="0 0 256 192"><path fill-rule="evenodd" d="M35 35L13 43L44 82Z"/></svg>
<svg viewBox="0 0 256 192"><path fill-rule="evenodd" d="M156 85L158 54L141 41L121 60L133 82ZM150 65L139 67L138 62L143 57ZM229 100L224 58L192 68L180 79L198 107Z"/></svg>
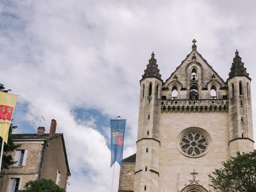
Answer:
<svg viewBox="0 0 256 192"><path fill-rule="evenodd" d="M8 92L10 90L5 90L4 85L0 83L0 91L2 92ZM2 169L8 169L10 168L10 165L14 164L15 162L12 160L12 156L10 155L10 152L14 152L14 150L18 149L20 145L16 145L13 143L12 138L12 131L16 129L18 126L15 126L13 124L10 125L9 134L8 134L8 142L7 144L4 144L4 153L3 159L2 159ZM0 139L0 149L2 148L2 138Z"/></svg>

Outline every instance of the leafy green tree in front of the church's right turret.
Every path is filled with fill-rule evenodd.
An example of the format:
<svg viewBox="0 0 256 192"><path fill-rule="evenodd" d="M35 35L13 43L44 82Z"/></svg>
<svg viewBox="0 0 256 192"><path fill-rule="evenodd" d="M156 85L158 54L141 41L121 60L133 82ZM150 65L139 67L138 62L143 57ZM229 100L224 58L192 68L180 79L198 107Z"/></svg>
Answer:
<svg viewBox="0 0 256 192"><path fill-rule="evenodd" d="M256 192L256 150L237 152L209 175L216 192Z"/></svg>

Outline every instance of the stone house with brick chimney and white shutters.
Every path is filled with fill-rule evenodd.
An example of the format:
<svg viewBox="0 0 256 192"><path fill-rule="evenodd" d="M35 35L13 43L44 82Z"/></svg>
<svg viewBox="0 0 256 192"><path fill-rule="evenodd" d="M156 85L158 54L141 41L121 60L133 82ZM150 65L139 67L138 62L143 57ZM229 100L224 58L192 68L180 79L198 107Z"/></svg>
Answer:
<svg viewBox="0 0 256 192"><path fill-rule="evenodd" d="M2 170L0 190L16 192L26 182L40 178L51 179L61 188L66 188L71 175L64 136L56 133L56 120L52 120L50 133L38 127L37 134L13 134L14 144L20 148L12 153L16 163L10 169Z"/></svg>

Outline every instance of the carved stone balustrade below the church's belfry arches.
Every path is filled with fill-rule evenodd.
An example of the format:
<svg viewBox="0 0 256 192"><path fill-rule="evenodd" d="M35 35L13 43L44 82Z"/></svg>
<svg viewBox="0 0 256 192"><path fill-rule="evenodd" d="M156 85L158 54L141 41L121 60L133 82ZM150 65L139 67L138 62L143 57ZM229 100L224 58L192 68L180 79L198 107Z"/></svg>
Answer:
<svg viewBox="0 0 256 192"><path fill-rule="evenodd" d="M228 112L227 99L162 100L161 112Z"/></svg>

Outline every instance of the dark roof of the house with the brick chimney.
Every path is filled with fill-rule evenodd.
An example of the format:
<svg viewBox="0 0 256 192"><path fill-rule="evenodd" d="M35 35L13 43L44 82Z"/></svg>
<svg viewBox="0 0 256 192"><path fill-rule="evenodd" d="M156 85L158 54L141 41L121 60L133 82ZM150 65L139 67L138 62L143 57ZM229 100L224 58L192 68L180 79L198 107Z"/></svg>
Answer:
<svg viewBox="0 0 256 192"><path fill-rule="evenodd" d="M68 174L70 176L71 173L70 173L70 169L68 166L68 156L67 156L67 152L66 152L66 146L65 146L65 142L64 142L63 133L56 133L53 136L49 136L49 134L27 134L27 133L26 134L12 134L12 137L14 140L30 140L30 139L46 140L46 139L54 139L58 136L61 136L61 138L62 138L62 145L63 145L63 149L64 149L66 166L67 166Z"/></svg>

